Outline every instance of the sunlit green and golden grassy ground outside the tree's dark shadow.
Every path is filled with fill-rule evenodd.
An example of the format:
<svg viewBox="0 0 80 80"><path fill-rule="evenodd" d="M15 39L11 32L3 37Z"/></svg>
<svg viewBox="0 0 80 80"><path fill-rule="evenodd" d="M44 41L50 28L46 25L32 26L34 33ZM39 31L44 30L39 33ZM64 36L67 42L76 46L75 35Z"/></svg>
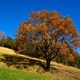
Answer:
<svg viewBox="0 0 80 80"><path fill-rule="evenodd" d="M4 48L4 47L0 47L0 54L1 55L2 54L9 54L9 55L14 55L14 56L17 55L17 53L15 53L15 51L8 49L8 48ZM17 56L29 58L32 60L38 60L38 61L40 60L40 59L36 59L36 58L31 58L31 57L28 57L25 55L18 54ZM45 62L44 60L40 60L40 61ZM15 71L16 71L16 73L14 74L15 77L17 77L19 75L23 76L23 74L25 74L25 76L23 76L23 79L20 79L20 78L15 79L15 77L13 77L13 79L10 79L10 80L26 80L27 79L27 78L25 78L26 76L28 78L33 76L33 79L29 78L27 80L80 80L80 69L70 67L70 66L65 66L63 64L59 64L56 62L51 62L50 71L45 71L39 65L33 65L33 66L28 65L28 67L26 69L22 69L22 70L20 70L20 72L18 72L19 70L15 69L15 71L14 71L13 70L14 67L11 66L10 68L7 67L7 71L11 70L10 74L9 74L9 72L7 72L5 68L6 68L6 64L1 62L0 63L0 70L1 70L0 76L5 73L4 77L6 75L10 75L12 77ZM29 74L31 76L28 76ZM10 76L7 76L7 77L10 77ZM36 78L34 78L34 76ZM42 79L41 79L41 77L42 77ZM0 78L1 78L0 80L4 80L2 77L0 77ZM6 80L9 80L9 79L6 79Z"/></svg>

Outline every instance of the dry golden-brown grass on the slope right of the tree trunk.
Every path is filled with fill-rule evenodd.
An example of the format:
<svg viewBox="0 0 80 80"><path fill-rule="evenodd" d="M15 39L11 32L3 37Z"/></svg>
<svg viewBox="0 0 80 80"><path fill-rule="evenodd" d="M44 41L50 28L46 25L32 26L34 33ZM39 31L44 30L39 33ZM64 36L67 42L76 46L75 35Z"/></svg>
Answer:
<svg viewBox="0 0 80 80"><path fill-rule="evenodd" d="M53 72L54 75L63 76L70 80L80 80L80 69L58 64L56 62L52 62L52 66L55 68Z"/></svg>

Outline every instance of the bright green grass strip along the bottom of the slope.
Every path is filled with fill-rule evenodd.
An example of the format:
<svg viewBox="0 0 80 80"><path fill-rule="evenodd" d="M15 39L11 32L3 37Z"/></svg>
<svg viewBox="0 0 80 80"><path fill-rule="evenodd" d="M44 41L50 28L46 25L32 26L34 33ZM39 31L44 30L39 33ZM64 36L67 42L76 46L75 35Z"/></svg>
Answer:
<svg viewBox="0 0 80 80"><path fill-rule="evenodd" d="M47 77L39 73L24 72L21 70L4 68L0 69L0 80L64 80L59 77Z"/></svg>

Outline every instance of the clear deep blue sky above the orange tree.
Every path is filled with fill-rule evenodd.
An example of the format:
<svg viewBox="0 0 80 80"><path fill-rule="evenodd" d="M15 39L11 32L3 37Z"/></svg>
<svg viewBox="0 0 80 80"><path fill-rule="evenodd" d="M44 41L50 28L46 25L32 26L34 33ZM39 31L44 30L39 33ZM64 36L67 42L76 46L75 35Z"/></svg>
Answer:
<svg viewBox="0 0 80 80"><path fill-rule="evenodd" d="M14 37L17 27L29 18L29 13L39 10L55 10L70 16L80 33L80 0L0 0L0 31Z"/></svg>

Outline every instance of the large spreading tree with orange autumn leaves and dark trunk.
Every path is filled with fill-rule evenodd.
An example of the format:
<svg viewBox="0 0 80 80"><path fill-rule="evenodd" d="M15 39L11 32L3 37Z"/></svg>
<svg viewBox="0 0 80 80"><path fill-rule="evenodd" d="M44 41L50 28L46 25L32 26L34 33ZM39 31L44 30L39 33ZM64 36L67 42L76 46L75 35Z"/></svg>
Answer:
<svg viewBox="0 0 80 80"><path fill-rule="evenodd" d="M46 69L58 53L76 52L80 47L80 39L75 25L70 17L62 17L57 12L38 11L30 14L28 22L22 27L31 44L36 47L46 60Z"/></svg>

